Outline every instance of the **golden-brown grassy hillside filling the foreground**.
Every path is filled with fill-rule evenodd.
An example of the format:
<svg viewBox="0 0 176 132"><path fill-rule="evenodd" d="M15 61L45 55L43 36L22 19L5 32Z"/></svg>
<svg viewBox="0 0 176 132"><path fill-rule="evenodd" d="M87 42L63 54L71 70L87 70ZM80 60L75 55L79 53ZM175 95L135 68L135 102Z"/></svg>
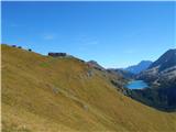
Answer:
<svg viewBox="0 0 176 132"><path fill-rule="evenodd" d="M1 45L4 132L176 131L164 113L118 92L75 58L53 58Z"/></svg>

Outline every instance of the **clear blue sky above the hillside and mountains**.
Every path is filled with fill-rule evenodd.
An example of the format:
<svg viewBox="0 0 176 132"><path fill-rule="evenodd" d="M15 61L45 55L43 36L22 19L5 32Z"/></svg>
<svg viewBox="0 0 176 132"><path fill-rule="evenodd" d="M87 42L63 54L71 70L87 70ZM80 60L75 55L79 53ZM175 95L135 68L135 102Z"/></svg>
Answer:
<svg viewBox="0 0 176 132"><path fill-rule="evenodd" d="M2 2L2 43L66 52L105 67L176 47L176 2Z"/></svg>

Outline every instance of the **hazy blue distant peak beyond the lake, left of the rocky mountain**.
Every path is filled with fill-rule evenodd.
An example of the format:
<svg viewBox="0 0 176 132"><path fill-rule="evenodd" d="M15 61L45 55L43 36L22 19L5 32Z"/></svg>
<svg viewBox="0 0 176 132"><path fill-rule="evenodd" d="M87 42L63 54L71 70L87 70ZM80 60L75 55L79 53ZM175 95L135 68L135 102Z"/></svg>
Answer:
<svg viewBox="0 0 176 132"><path fill-rule="evenodd" d="M140 74L141 72L147 69L151 66L151 61L142 61L138 65L127 67L125 70L132 74Z"/></svg>

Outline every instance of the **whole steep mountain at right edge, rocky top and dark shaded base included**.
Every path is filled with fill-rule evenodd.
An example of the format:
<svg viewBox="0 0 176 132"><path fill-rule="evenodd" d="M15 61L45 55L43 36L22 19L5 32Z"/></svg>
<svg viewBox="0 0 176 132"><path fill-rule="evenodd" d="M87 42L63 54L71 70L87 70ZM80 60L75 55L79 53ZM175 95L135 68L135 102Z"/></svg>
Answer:
<svg viewBox="0 0 176 132"><path fill-rule="evenodd" d="M157 109L176 110L176 50L168 50L136 77L151 88L132 91L131 97Z"/></svg>

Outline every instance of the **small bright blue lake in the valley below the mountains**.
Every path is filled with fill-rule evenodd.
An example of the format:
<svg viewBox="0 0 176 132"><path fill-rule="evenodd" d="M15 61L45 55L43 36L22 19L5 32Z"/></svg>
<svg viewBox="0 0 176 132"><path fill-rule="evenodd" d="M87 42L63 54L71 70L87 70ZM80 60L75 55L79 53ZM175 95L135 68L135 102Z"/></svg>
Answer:
<svg viewBox="0 0 176 132"><path fill-rule="evenodd" d="M143 80L132 80L125 87L129 89L143 89L148 87L148 85Z"/></svg>

